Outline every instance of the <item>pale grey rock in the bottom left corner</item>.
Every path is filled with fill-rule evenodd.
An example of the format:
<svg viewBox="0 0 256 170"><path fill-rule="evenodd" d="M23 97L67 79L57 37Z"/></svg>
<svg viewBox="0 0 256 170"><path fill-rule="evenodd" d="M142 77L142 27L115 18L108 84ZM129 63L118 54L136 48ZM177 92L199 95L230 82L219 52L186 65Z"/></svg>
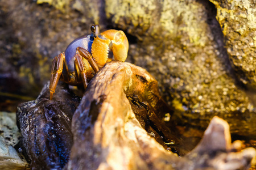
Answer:
<svg viewBox="0 0 256 170"><path fill-rule="evenodd" d="M0 112L0 169L3 170L28 168L24 156L14 148L20 137L15 115L15 113Z"/></svg>

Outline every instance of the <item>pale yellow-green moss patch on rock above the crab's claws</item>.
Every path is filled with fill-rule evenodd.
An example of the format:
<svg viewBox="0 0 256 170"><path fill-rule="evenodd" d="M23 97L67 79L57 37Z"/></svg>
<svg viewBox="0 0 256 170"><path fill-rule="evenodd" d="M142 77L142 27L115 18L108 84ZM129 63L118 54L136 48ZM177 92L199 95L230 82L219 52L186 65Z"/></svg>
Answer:
<svg viewBox="0 0 256 170"><path fill-rule="evenodd" d="M204 46L207 42L204 29L207 24L193 15L201 10L198 3L184 5L180 1L106 1L105 10L107 18L119 27L126 29L122 24L125 19L128 26L137 28L129 31L134 35L144 34L168 41L170 36L183 31L184 36L187 34L189 41L195 45Z"/></svg>

